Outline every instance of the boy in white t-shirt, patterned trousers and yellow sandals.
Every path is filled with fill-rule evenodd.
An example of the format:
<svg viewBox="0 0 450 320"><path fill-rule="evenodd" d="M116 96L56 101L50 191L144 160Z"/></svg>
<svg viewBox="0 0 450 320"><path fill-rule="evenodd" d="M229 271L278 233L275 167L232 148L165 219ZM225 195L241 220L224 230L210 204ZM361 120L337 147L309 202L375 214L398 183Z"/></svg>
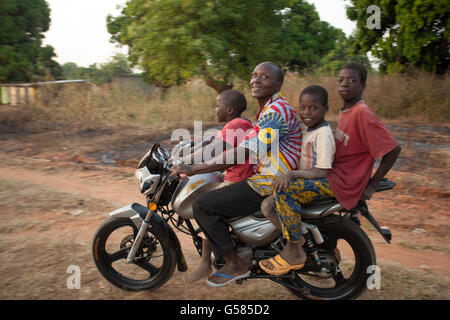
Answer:
<svg viewBox="0 0 450 320"><path fill-rule="evenodd" d="M302 205L334 197L326 178L336 152L333 132L325 121L328 93L320 86L309 86L300 94L299 103L303 122L299 169L278 176L273 183L273 197L267 197L261 204L263 214L282 230L287 240L279 255L259 262L261 269L272 275L304 266L307 257L300 231Z"/></svg>

